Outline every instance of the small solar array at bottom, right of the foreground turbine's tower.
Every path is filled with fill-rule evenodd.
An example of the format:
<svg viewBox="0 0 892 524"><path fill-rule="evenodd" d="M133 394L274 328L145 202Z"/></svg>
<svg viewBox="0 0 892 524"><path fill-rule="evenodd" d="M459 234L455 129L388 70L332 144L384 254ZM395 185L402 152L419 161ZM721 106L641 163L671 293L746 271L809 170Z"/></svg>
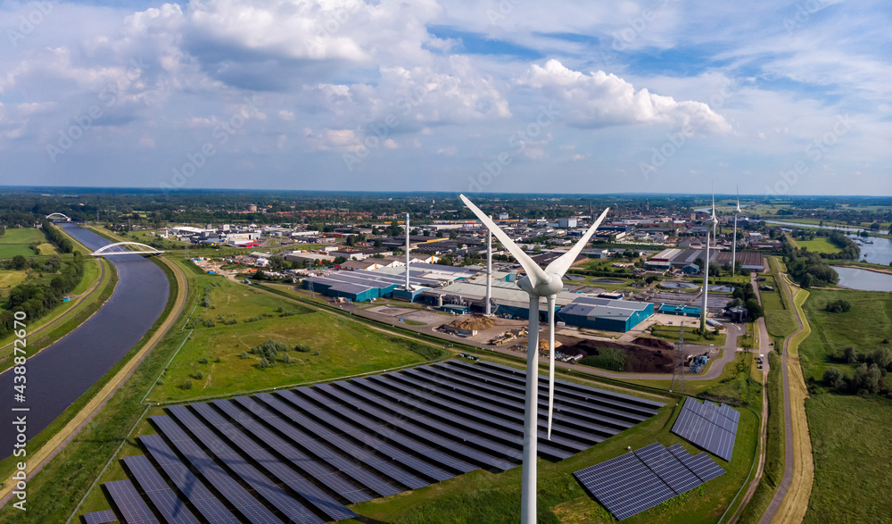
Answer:
<svg viewBox="0 0 892 524"><path fill-rule="evenodd" d="M648 510L723 474L706 453L654 443L574 473L617 520Z"/></svg>

